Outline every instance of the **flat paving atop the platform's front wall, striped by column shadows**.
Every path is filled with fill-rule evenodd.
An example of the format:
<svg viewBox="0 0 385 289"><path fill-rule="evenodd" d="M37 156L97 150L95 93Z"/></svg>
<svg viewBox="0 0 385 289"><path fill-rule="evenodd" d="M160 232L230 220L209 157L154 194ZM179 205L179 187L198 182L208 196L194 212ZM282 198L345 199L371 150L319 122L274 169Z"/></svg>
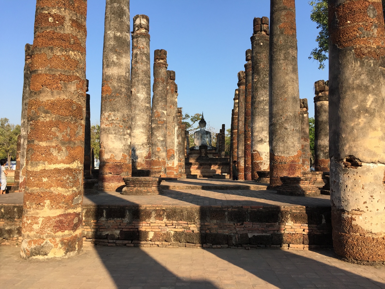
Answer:
<svg viewBox="0 0 385 289"><path fill-rule="evenodd" d="M0 204L22 204L23 193L0 195ZM85 196L84 205L161 205L161 206L322 206L330 207L330 196L293 197L269 190L164 190L162 195L125 196L100 192Z"/></svg>

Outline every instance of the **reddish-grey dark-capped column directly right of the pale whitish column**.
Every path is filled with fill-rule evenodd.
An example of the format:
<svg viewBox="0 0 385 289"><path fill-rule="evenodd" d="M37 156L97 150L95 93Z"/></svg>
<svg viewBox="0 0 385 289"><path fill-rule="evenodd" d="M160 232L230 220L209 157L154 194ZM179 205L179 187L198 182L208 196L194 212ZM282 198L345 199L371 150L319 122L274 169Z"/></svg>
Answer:
<svg viewBox="0 0 385 289"><path fill-rule="evenodd" d="M161 177L166 177L167 157L167 51L154 51L154 83L152 85L151 108L151 167L161 170Z"/></svg>

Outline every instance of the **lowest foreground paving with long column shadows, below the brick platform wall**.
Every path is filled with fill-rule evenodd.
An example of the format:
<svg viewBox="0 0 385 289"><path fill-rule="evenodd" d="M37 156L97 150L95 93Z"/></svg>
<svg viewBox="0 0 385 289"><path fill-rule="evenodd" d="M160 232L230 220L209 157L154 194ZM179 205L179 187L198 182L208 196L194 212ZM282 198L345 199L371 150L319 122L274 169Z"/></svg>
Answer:
<svg viewBox="0 0 385 289"><path fill-rule="evenodd" d="M342 262L329 250L87 245L83 255L39 262L2 246L0 260L2 289L385 288L385 267Z"/></svg>

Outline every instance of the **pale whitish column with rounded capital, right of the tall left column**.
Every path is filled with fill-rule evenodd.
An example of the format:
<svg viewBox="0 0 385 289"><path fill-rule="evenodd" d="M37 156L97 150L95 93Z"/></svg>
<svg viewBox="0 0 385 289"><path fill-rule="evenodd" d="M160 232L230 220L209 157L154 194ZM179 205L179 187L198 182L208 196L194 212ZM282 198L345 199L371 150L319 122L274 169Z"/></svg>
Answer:
<svg viewBox="0 0 385 289"><path fill-rule="evenodd" d="M151 167L151 68L149 18L133 19L131 62L132 169Z"/></svg>

